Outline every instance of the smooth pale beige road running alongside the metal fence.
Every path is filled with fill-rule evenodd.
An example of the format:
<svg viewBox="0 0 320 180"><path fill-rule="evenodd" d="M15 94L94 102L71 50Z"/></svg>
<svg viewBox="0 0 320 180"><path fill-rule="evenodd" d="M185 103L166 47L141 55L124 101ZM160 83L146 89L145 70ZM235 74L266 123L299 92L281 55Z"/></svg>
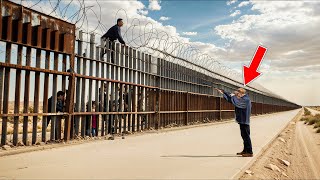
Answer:
<svg viewBox="0 0 320 180"><path fill-rule="evenodd" d="M254 153L298 112L253 117ZM0 157L0 178L230 179L253 159L242 148L232 122Z"/></svg>

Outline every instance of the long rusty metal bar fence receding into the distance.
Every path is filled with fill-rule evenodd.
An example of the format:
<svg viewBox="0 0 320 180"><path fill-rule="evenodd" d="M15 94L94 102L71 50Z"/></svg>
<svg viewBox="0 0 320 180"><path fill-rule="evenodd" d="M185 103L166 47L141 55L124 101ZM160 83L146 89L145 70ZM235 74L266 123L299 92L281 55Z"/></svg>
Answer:
<svg viewBox="0 0 320 180"><path fill-rule="evenodd" d="M118 43L97 45L93 34L85 42L81 31L76 38L73 24L0 3L1 145L92 136L92 115L96 136L234 116L213 87L233 91L235 85ZM253 115L300 107L247 90ZM66 92L63 112L56 112L58 91Z"/></svg>

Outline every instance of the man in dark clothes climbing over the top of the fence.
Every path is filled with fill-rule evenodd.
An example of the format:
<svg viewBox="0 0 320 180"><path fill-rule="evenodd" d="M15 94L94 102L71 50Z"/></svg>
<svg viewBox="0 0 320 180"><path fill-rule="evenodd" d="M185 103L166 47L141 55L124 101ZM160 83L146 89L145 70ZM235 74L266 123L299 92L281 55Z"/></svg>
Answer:
<svg viewBox="0 0 320 180"><path fill-rule="evenodd" d="M109 49L112 50L111 52L111 62L114 63L114 50L115 47L112 46L113 41L117 40L123 44L126 45L124 42L122 36L121 36L121 29L120 27L123 26L123 21L121 18L117 19L117 24L112 26L107 33L105 33L101 38L102 39L109 39Z"/></svg>

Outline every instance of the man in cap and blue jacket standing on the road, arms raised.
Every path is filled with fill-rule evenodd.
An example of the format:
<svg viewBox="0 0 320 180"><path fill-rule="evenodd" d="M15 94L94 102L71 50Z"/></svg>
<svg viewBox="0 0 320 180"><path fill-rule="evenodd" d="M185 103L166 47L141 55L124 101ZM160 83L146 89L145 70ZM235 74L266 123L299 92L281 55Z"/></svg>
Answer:
<svg viewBox="0 0 320 180"><path fill-rule="evenodd" d="M246 90L239 88L234 93L228 93L223 90L217 89L223 97L235 106L236 121L240 125L241 137L243 139L243 151L237 153L243 157L252 157L252 144L250 139L250 114L251 114L251 101L246 94Z"/></svg>

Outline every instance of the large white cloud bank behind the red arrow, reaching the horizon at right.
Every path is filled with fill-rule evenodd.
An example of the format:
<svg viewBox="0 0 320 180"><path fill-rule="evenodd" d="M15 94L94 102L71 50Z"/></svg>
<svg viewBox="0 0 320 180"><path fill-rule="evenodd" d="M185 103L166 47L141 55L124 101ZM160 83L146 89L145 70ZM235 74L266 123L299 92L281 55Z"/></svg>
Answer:
<svg viewBox="0 0 320 180"><path fill-rule="evenodd" d="M302 105L320 104L320 2L250 1L256 14L214 28L229 41L220 57L249 64L259 44L268 48L257 82ZM241 4L241 3L240 3ZM244 6L242 4L242 6ZM264 67L263 65L260 67Z"/></svg>

